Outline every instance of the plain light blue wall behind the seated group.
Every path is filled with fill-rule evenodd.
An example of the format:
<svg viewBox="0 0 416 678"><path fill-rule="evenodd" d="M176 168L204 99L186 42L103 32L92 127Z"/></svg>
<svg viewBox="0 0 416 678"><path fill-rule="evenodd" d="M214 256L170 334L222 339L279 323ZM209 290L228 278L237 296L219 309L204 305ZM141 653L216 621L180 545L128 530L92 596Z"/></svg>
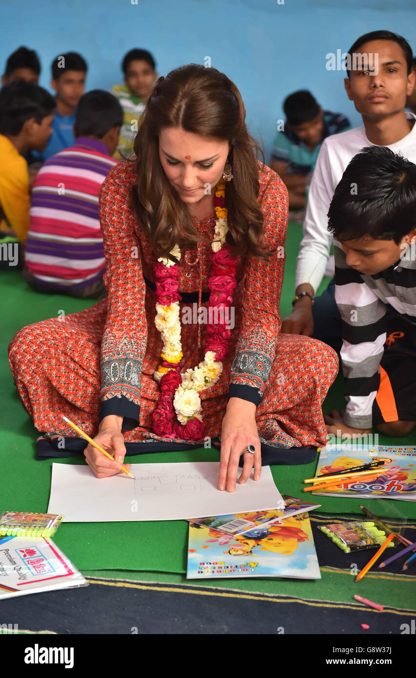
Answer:
<svg viewBox="0 0 416 678"><path fill-rule="evenodd" d="M132 4L137 1L136 4ZM87 89L122 81L121 58L148 49L159 75L190 62L224 71L240 89L251 134L262 139L266 161L281 104L295 89L361 119L344 92L344 72L327 71L326 55L346 52L368 31L403 35L416 52L415 0L0 0L0 68L20 45L36 49L49 88L58 54L81 52L89 64Z"/></svg>

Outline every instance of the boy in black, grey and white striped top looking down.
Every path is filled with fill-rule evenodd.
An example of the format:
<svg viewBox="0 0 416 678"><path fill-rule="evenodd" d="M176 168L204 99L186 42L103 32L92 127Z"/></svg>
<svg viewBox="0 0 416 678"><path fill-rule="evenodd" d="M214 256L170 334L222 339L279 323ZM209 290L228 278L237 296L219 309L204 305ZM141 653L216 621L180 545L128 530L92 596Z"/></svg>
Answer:
<svg viewBox="0 0 416 678"><path fill-rule="evenodd" d="M348 404L329 433L407 436L416 424L416 165L385 146L354 156L328 212Z"/></svg>

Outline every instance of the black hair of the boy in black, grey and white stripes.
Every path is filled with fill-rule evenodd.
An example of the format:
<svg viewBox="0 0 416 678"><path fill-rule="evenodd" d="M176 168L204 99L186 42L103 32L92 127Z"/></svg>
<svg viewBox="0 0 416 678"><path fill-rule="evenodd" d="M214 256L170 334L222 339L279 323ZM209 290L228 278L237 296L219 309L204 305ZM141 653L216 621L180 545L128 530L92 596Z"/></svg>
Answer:
<svg viewBox="0 0 416 678"><path fill-rule="evenodd" d="M335 188L328 231L340 242L370 235L396 245L416 227L416 165L386 146L354 155Z"/></svg>

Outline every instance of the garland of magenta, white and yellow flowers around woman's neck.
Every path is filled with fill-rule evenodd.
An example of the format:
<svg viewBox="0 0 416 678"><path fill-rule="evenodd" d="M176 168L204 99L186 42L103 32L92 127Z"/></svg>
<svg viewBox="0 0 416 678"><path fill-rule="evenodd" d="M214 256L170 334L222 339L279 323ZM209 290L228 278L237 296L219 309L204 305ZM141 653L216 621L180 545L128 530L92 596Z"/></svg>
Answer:
<svg viewBox="0 0 416 678"><path fill-rule="evenodd" d="M232 303L236 287L237 259L229 247L223 247L228 231L225 206L225 181L220 180L213 199L215 214L215 240L212 270L209 277L209 313L204 360L197 367L180 373L182 360L179 288L179 265L161 257L154 266L157 292L155 325L161 332L163 350L161 364L154 372L160 382L161 395L152 412L153 431L161 437L178 437L184 440L201 440L205 425L201 416L199 391L213 386L222 374L222 359L228 351L230 329L225 325L226 308ZM180 248L171 250L180 260ZM221 310L222 309L222 310ZM213 319L218 319L217 323ZM176 414L176 416L175 416Z"/></svg>

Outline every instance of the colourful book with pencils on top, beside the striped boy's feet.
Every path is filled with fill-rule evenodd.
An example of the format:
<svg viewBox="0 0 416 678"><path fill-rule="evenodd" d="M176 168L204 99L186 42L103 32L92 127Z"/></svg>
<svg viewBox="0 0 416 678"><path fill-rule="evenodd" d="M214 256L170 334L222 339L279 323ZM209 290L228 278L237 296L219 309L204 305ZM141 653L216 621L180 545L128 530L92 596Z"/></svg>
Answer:
<svg viewBox="0 0 416 678"><path fill-rule="evenodd" d="M320 496L360 497L363 499L402 499L416 501L416 447L407 445L327 445L320 451L316 476L325 476L333 471L384 460L382 471L377 478L366 482L340 482L333 490L313 492Z"/></svg>

